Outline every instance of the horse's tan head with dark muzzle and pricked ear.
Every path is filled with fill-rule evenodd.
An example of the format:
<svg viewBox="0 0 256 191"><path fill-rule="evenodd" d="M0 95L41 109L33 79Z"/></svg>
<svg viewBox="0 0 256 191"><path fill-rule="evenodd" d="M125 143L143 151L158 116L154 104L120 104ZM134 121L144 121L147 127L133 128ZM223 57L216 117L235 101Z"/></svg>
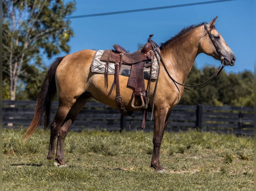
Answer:
<svg viewBox="0 0 256 191"><path fill-rule="evenodd" d="M220 33L215 29L217 17L210 23L204 25L204 35L200 40L200 52L203 52L213 58L220 60L224 65L233 66L236 57L233 51L226 44Z"/></svg>

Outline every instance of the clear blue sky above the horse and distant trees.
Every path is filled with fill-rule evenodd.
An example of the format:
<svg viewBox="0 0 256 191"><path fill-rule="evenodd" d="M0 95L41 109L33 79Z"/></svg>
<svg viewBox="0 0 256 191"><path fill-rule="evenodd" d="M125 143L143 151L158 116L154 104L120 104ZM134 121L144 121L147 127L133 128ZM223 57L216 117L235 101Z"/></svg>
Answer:
<svg viewBox="0 0 256 191"><path fill-rule="evenodd" d="M162 7L178 4L206 2L210 0L97 0L76 1L76 11L71 16L106 13ZM65 3L70 0L64 0ZM210 22L218 16L216 29L223 36L236 56L234 66L226 66L227 73L239 73L245 70L254 72L255 50L254 34L254 1L236 0L205 5L194 5L171 9L133 12L117 15L96 16L71 19L75 37L71 39L70 53L83 49L112 49L119 44L129 52L144 44L149 34L158 45L176 35L182 28L201 22ZM255 38L254 38L255 39ZM63 56L61 53L57 56ZM45 60L49 65L55 58ZM199 69L206 65L218 67L220 62L204 54L196 59Z"/></svg>

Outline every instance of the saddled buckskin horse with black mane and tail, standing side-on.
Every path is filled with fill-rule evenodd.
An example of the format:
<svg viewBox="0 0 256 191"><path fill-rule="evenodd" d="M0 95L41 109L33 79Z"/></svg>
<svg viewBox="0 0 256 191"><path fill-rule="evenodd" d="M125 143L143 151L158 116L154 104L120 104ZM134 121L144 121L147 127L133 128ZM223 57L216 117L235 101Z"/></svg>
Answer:
<svg viewBox="0 0 256 191"><path fill-rule="evenodd" d="M148 94L151 108L154 102L154 109L151 111L154 112L154 133L150 167L153 167L155 171L164 171L159 162L164 129L172 108L179 102L183 94L184 81L197 55L205 53L220 60L224 66L233 66L235 63L234 53L215 28L216 20L217 17L209 23L204 22L183 28L176 36L160 46L162 59L159 65L157 91L155 95L153 95L153 91ZM50 143L47 159L55 160L60 166L67 165L63 160L65 137L86 102L91 97L94 97L102 103L118 108L115 94L108 95L109 90L104 85L104 74L91 71L91 63L95 52L95 50L89 49L82 50L57 58L53 62L49 67L38 95L34 117L23 136L23 140L27 140L33 134L44 113L44 127L47 128L51 101L57 93L59 106L50 124ZM127 88L128 77L120 75L119 78L120 92L125 108L128 111L138 110L131 106L133 90ZM114 75L109 75L108 79L109 82L113 82ZM145 87L147 87L149 80L144 80L144 83ZM151 87L154 88L155 86L156 81L152 80ZM154 101L153 98L155 99ZM54 158L55 147L56 155Z"/></svg>

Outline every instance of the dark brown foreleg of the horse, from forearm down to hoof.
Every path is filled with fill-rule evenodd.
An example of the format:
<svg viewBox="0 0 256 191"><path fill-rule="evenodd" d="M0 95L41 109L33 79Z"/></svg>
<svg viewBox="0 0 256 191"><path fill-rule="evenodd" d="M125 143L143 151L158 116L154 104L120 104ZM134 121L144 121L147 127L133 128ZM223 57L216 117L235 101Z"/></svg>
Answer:
<svg viewBox="0 0 256 191"><path fill-rule="evenodd" d="M154 135L153 135L153 155L151 160L151 167L156 171L163 172L164 169L159 162L160 146L162 143L164 129L167 125L168 118L171 110L167 109L156 109L155 110L155 121L154 121Z"/></svg>

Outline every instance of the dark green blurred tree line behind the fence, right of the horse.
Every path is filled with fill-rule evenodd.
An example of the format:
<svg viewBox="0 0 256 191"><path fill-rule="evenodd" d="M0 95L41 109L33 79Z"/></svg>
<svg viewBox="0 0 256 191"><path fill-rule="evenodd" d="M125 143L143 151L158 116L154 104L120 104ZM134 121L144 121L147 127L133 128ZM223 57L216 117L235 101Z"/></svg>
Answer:
<svg viewBox="0 0 256 191"><path fill-rule="evenodd" d="M202 71L193 66L185 84L194 85L208 80L217 68L206 66ZM190 88L191 89L191 88ZM239 74L221 74L206 87L196 90L184 90L179 104L205 105L254 105L254 75L245 71Z"/></svg>

